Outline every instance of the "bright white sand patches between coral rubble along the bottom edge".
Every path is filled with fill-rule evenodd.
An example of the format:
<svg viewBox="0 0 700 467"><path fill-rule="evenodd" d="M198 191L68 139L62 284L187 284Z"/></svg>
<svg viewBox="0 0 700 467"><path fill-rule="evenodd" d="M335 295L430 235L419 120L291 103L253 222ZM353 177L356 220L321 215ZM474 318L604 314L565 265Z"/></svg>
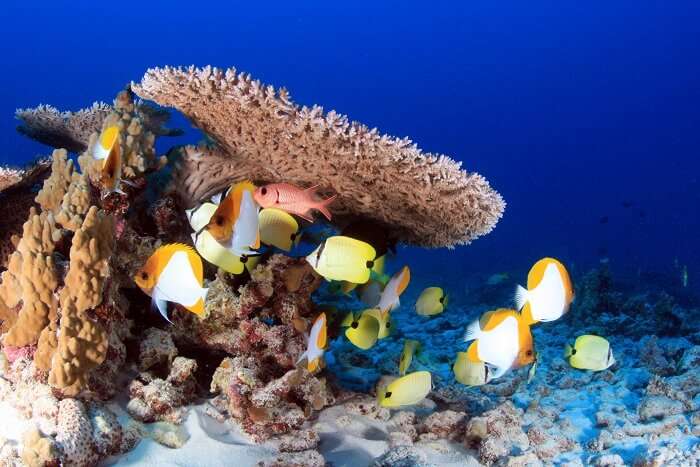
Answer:
<svg viewBox="0 0 700 467"><path fill-rule="evenodd" d="M128 418L117 406L110 406L124 424ZM0 436L21 444L22 435L34 426L6 402L0 402ZM146 425L150 432L164 424ZM171 426L171 425L170 425ZM366 467L388 448L388 426L367 417L348 415L344 408L330 407L310 425L320 437L319 451L334 467ZM235 428L221 424L204 414L204 406L191 408L181 427L189 439L180 449L165 447L151 438L144 438L134 450L103 462L109 466L187 466L204 467L233 465L254 466L258 461L277 454L272 443L250 443ZM445 441L419 442L415 445L428 462L440 466L478 465L461 446Z"/></svg>

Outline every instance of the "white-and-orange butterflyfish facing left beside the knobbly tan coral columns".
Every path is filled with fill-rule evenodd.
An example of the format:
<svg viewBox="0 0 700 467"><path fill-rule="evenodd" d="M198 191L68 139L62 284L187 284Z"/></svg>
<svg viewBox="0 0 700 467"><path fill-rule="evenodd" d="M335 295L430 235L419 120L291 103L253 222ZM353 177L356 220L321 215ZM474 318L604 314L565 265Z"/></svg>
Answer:
<svg viewBox="0 0 700 467"><path fill-rule="evenodd" d="M209 289L202 287L202 260L187 245L171 243L158 248L134 276L134 282L151 296L153 305L168 319L166 302L178 303L200 318Z"/></svg>

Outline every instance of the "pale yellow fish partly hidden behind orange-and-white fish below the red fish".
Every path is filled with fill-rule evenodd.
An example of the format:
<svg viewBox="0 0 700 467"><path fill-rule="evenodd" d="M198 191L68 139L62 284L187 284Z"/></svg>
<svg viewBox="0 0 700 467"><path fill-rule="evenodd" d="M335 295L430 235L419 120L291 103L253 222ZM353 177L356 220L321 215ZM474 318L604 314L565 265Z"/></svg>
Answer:
<svg viewBox="0 0 700 467"><path fill-rule="evenodd" d="M186 211L190 225L195 231L192 234L192 241L197 252L209 263L228 273L242 274L244 268L251 271L259 261L258 256L236 256L204 229L216 212L216 208L216 204L204 203L196 209Z"/></svg>

